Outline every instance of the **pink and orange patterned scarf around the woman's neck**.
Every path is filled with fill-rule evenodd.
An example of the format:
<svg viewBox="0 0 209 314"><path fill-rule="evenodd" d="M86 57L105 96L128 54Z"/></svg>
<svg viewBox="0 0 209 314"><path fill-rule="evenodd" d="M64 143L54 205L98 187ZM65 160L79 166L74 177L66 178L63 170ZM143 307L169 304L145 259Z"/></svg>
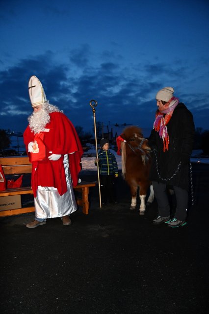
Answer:
<svg viewBox="0 0 209 314"><path fill-rule="evenodd" d="M165 150L168 151L168 144L169 144L169 136L166 125L171 119L171 116L174 112L174 109L179 104L179 99L176 97L172 97L165 105L164 110L159 111L157 109L156 112L156 119L154 122L153 129L159 133L159 136L163 140L163 152ZM164 116L165 114L165 116Z"/></svg>

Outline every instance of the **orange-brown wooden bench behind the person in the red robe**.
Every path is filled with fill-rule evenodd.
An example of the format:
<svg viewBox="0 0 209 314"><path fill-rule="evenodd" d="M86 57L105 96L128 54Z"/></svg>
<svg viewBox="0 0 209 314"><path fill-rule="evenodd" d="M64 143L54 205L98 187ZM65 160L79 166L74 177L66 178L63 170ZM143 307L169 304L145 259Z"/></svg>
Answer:
<svg viewBox="0 0 209 314"><path fill-rule="evenodd" d="M32 165L29 162L28 157L0 157L0 164L2 165L4 175L16 175L16 174L28 174L31 173ZM82 207L82 212L88 214L89 210L89 187L95 186L96 183L92 182L83 182L81 181L75 187L75 191L78 191L80 197L76 197L77 204ZM2 196L11 196L11 195L23 195L23 194L32 194L33 191L30 186L19 187L19 188L10 188L4 191L0 191L0 197ZM18 215L26 212L35 211L34 206L18 208L18 209L5 209L0 210L0 217Z"/></svg>

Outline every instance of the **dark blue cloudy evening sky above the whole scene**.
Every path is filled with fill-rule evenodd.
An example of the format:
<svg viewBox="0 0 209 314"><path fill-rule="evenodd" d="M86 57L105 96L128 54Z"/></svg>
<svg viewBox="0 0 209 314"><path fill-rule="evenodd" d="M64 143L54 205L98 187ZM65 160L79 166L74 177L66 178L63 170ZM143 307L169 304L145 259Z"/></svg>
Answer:
<svg viewBox="0 0 209 314"><path fill-rule="evenodd" d="M0 129L24 131L28 79L75 126L152 129L155 96L172 86L209 129L208 0L0 0Z"/></svg>

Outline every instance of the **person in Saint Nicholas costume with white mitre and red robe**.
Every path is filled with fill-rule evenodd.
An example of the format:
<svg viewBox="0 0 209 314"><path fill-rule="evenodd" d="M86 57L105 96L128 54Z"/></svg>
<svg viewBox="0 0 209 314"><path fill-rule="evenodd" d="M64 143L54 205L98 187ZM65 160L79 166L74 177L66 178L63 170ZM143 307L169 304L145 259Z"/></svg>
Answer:
<svg viewBox="0 0 209 314"><path fill-rule="evenodd" d="M28 91L33 113L28 118L24 143L32 163L35 220L26 227L44 225L47 218L55 217L70 225L69 214L77 210L73 187L78 184L83 154L78 134L66 115L49 104L37 77L29 79Z"/></svg>

